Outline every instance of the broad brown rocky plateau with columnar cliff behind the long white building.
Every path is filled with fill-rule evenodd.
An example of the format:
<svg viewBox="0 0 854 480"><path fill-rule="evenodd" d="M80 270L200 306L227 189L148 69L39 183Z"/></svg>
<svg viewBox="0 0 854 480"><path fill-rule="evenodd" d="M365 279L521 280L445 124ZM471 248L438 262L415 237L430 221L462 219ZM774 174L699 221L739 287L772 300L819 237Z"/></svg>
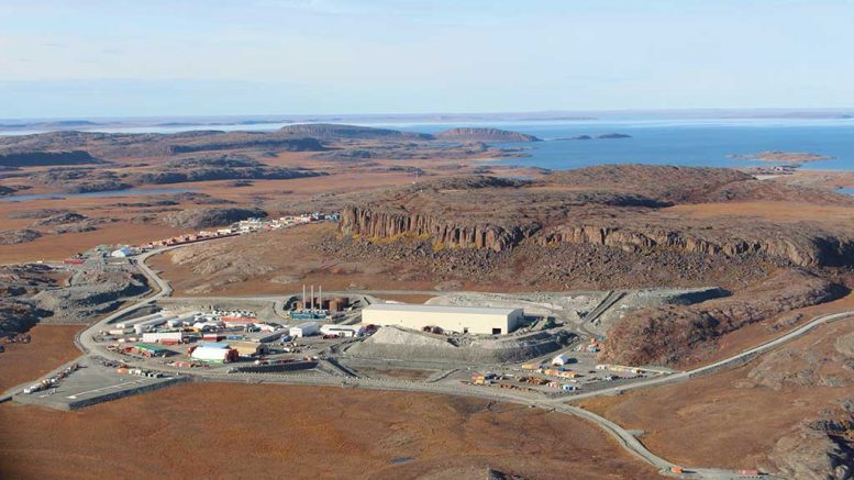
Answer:
<svg viewBox="0 0 854 480"><path fill-rule="evenodd" d="M735 170L629 165L556 172L539 181L488 176L422 181L344 208L340 230L369 239L423 237L437 247L495 252L530 242L637 254L763 256L801 267L854 265L854 235L833 224L737 215L709 221L666 210L680 203L792 200L854 206L845 196L762 182Z"/></svg>

